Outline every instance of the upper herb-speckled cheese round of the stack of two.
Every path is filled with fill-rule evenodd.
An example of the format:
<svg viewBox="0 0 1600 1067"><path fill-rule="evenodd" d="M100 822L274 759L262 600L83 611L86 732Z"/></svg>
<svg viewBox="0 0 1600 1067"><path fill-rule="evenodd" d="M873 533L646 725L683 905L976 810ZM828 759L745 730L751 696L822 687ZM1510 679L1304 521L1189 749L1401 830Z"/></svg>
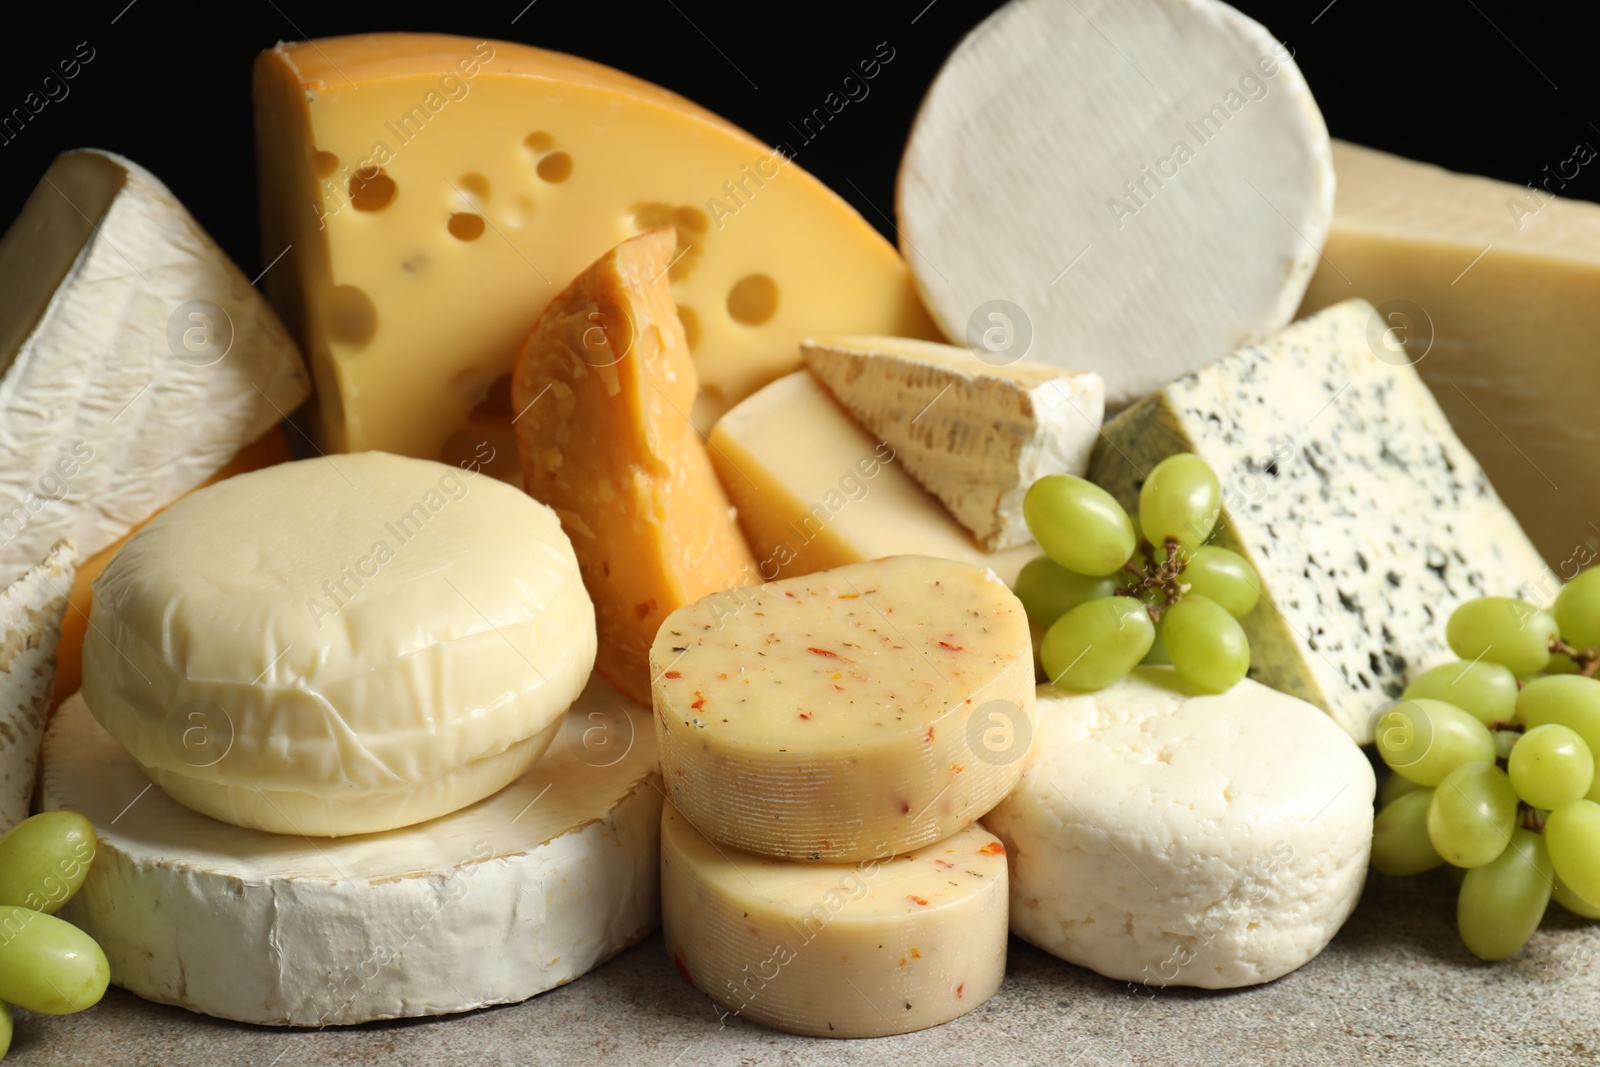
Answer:
<svg viewBox="0 0 1600 1067"><path fill-rule="evenodd" d="M1022 605L992 573L891 557L706 597L661 624L667 798L778 859L898 854L1000 803L1032 737Z"/></svg>

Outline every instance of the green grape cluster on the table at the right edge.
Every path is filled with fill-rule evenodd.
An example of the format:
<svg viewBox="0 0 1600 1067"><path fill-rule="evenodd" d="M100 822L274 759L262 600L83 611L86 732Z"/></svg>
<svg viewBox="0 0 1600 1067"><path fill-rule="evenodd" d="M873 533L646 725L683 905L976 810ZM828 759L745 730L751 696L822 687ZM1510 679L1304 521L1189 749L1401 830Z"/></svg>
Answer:
<svg viewBox="0 0 1600 1067"><path fill-rule="evenodd" d="M1379 793L1373 867L1464 870L1461 941L1518 952L1555 902L1600 918L1600 568L1552 611L1483 597L1445 627L1459 662L1419 675L1378 720L1394 774Z"/></svg>

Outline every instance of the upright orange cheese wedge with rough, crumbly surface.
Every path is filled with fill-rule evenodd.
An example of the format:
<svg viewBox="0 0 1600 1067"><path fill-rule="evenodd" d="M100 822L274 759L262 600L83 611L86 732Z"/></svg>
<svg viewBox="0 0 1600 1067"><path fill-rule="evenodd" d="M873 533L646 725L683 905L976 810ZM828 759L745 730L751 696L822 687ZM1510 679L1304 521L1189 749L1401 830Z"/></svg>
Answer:
<svg viewBox="0 0 1600 1067"><path fill-rule="evenodd" d="M597 669L640 702L661 621L760 581L688 419L696 381L667 286L674 246L672 230L651 230L578 275L539 315L512 378L523 483L573 541L595 601Z"/></svg>

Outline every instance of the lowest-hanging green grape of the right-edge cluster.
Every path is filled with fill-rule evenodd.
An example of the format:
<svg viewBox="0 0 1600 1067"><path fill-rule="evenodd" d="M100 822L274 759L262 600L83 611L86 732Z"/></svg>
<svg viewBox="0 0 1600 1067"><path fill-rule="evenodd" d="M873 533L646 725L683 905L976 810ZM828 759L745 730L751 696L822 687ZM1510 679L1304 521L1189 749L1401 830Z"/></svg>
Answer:
<svg viewBox="0 0 1600 1067"><path fill-rule="evenodd" d="M1499 856L1474 867L1456 897L1456 929L1472 955L1504 960L1517 955L1544 918L1555 880L1544 835L1515 830Z"/></svg>

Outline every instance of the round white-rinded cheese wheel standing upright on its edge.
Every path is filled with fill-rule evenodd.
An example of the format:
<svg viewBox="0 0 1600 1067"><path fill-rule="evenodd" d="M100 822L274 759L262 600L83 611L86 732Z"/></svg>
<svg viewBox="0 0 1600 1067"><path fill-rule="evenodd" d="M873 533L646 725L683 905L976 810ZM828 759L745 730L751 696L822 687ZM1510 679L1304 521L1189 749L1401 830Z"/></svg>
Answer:
<svg viewBox="0 0 1600 1067"><path fill-rule="evenodd" d="M1290 322L1333 214L1290 56L1218 0L1016 0L912 126L901 251L954 341L1123 406Z"/></svg>

